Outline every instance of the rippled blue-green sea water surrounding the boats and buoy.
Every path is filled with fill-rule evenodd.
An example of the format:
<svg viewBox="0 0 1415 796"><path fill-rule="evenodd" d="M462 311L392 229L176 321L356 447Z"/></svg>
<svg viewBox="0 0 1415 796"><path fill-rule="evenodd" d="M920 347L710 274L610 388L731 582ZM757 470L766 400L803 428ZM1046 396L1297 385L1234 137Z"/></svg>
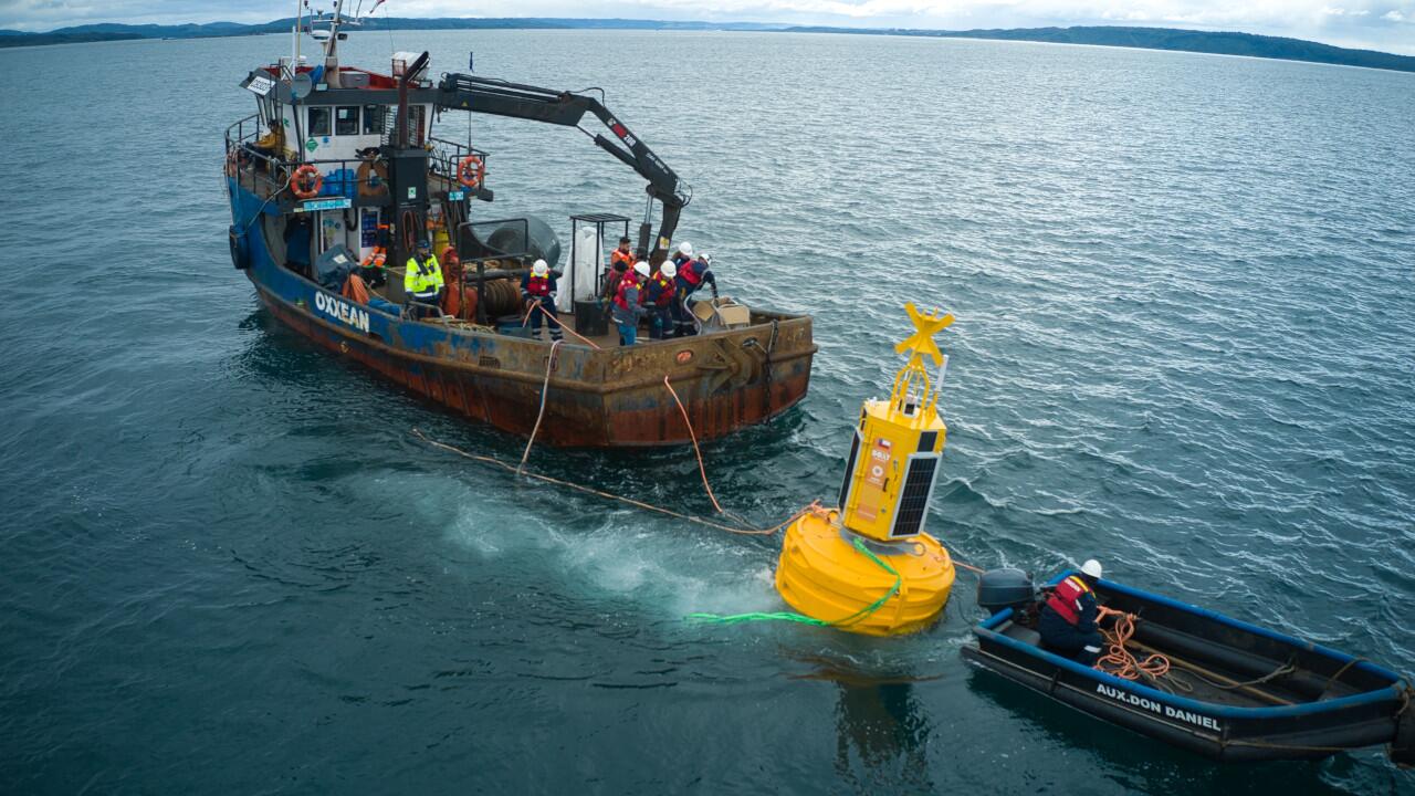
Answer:
<svg viewBox="0 0 1415 796"><path fill-rule="evenodd" d="M906 639L780 610L775 538L519 456L265 312L222 132L289 37L0 51L0 790L1415 792L1380 751L1220 766L969 670L962 574ZM308 42L306 42L308 47ZM831 500L859 402L945 307L928 530L1415 670L1415 75L838 35L355 33L607 102L724 293L815 317L811 392L705 445L763 525ZM642 212L576 130L446 115L483 218ZM679 511L686 448L531 467Z"/></svg>

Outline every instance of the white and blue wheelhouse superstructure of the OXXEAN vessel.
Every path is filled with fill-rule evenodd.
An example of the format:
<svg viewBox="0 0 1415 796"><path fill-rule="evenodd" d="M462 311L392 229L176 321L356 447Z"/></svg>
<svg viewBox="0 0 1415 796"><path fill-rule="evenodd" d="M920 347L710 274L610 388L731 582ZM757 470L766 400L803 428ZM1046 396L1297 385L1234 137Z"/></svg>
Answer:
<svg viewBox="0 0 1415 796"><path fill-rule="evenodd" d="M410 58L416 55L398 54L395 72ZM398 76L354 67L325 72L299 65L291 72L282 62L252 71L241 85L255 93L256 112L226 132L228 174L270 201L267 232L279 234L266 239L279 241L282 263L307 276L338 246L359 262L386 248L388 262L402 263L417 239L439 232L443 245L434 251L441 252L450 242L446 229L467 221L468 203L492 197L484 186L468 190L457 181L458 163L474 156L484 169L488 154L433 137L436 89L420 76L409 81L402 113ZM272 122L279 125L275 136ZM424 164L420 174L405 174L408 186L396 198L389 176L395 149L417 150L413 160ZM291 184L301 166L317 170L317 190ZM310 195L299 195L299 187ZM389 300L402 300L398 285L391 292Z"/></svg>

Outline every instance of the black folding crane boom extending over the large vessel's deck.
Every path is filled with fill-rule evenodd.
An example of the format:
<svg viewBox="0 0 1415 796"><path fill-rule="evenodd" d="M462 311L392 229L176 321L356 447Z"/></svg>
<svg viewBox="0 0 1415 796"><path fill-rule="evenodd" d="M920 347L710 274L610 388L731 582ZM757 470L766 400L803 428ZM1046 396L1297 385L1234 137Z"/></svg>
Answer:
<svg viewBox="0 0 1415 796"><path fill-rule="evenodd" d="M624 122L611 113L604 103L593 96L453 72L444 75L437 86L437 108L562 125L590 135L596 146L648 180L648 195L664 205L655 249L668 248L674 231L678 228L678 218L692 198L683 190L686 186L681 184L678 174L654 154L654 150L648 149L642 139L630 132ZM580 120L584 119L586 113L594 115L614 133L614 139L580 127ZM649 228L645 218L638 231L638 248L645 256L651 251L648 245Z"/></svg>

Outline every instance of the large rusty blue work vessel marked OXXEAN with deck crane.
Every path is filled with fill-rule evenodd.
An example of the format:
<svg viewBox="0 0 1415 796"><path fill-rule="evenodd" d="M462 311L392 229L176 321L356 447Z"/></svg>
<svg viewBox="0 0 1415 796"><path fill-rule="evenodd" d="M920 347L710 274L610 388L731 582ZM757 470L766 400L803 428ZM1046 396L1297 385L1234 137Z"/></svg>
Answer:
<svg viewBox="0 0 1415 796"><path fill-rule="evenodd" d="M590 135L648 181L637 254L657 265L692 193L601 99L467 74L433 82L427 52L393 54L388 74L345 67L338 45L355 24L338 3L310 20L314 64L299 55L296 31L291 57L241 82L256 113L226 130L232 261L276 317L467 418L529 435L543 415L536 439L559 446L716 438L805 397L816 350L808 316L691 302L696 334L648 340L640 330L640 344L620 346L597 296L630 218L573 215L560 265L550 225L480 210L494 200L491 154L433 135L433 119L450 112ZM607 135L582 126L587 118ZM270 120L283 126L276 140ZM403 292L403 263L423 238L440 259L451 251L460 261L443 262L449 299L437 306L410 305ZM526 313L539 310L522 306L519 288L536 259L558 276L562 344L531 334ZM376 275L361 266L378 261L385 283L350 279Z"/></svg>

